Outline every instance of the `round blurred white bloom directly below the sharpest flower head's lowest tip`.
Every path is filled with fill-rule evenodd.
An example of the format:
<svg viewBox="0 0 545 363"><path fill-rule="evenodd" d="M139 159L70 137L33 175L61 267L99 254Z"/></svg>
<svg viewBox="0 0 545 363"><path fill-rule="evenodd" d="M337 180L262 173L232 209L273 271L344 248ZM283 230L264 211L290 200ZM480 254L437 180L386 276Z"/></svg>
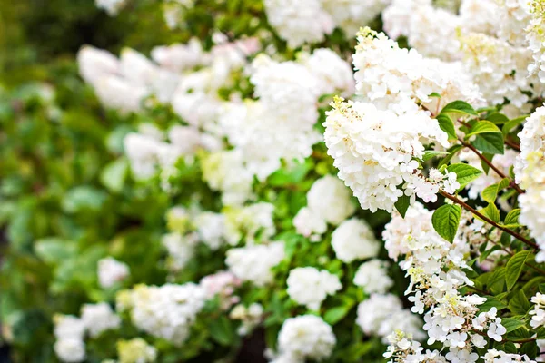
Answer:
<svg viewBox="0 0 545 363"><path fill-rule="evenodd" d="M332 246L337 258L346 263L376 257L380 249L372 229L356 218L343 221L333 231Z"/></svg>

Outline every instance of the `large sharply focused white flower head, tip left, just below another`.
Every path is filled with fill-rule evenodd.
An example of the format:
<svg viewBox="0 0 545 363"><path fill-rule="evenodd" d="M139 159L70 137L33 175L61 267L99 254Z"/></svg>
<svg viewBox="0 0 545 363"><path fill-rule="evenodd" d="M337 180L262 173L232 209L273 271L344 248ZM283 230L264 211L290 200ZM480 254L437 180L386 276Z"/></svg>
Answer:
<svg viewBox="0 0 545 363"><path fill-rule="evenodd" d="M441 188L456 191L456 183L427 179L413 160L424 154L422 140L447 147L447 134L415 103L399 106L405 108L395 113L381 111L373 103L343 103L338 99L327 113L328 153L339 169L339 178L352 189L362 209L392 211L403 195L411 196L411 201L416 196L436 201ZM449 180L448 174L444 177Z"/></svg>

